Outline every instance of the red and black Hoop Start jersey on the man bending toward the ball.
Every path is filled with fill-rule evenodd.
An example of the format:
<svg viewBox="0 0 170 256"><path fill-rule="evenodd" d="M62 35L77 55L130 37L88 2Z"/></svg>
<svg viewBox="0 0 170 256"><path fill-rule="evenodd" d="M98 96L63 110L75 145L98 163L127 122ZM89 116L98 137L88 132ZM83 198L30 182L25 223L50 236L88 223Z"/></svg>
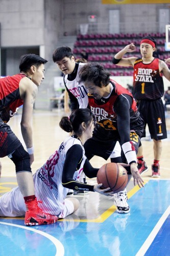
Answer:
<svg viewBox="0 0 170 256"><path fill-rule="evenodd" d="M114 80L110 79L110 82L112 83L114 90L108 98L101 98L101 100L96 100L92 95L88 94L88 103L91 112L95 115L96 121L105 130L115 131L117 130L117 115L114 112L114 102L120 94L127 94L132 98L132 105L129 110L131 121L133 120L134 122L137 120L139 118L139 113L132 94Z"/></svg>

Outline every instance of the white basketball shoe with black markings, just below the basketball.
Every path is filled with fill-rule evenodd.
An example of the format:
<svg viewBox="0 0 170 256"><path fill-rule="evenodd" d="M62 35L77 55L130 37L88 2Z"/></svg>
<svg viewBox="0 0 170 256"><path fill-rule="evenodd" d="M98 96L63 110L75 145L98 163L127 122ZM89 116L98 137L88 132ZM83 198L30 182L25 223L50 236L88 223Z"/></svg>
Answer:
<svg viewBox="0 0 170 256"><path fill-rule="evenodd" d="M113 194L113 199L116 203L117 212L119 214L127 214L130 211L129 204L127 203L128 197L126 189Z"/></svg>

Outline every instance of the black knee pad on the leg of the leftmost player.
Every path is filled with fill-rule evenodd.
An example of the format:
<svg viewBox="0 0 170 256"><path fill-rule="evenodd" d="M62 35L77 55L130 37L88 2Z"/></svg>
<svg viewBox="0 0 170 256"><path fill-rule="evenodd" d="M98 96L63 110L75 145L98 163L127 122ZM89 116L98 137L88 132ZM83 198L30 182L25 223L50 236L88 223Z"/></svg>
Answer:
<svg viewBox="0 0 170 256"><path fill-rule="evenodd" d="M30 155L27 151L23 148L22 145L20 145L12 154L11 160L15 164L15 170L16 173L19 172L31 172L31 166L30 166Z"/></svg>

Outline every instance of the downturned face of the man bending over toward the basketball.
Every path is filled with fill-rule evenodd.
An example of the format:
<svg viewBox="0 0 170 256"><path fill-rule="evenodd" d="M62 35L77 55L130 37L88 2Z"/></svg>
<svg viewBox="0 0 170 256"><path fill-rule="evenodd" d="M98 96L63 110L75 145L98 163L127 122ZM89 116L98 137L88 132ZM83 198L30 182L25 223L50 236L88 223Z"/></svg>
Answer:
<svg viewBox="0 0 170 256"><path fill-rule="evenodd" d="M107 96L106 87L95 86L93 82L84 82L85 88L88 89L89 94L92 95L95 99L101 99L102 97Z"/></svg>

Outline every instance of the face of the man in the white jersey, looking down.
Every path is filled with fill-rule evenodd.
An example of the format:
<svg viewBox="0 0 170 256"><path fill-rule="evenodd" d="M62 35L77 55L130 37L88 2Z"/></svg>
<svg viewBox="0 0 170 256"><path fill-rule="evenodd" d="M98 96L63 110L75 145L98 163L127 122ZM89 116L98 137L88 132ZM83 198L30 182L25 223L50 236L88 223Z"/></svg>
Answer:
<svg viewBox="0 0 170 256"><path fill-rule="evenodd" d="M76 65L74 56L71 56L71 59L69 57L64 57L63 59L56 61L56 64L64 75L71 74Z"/></svg>

